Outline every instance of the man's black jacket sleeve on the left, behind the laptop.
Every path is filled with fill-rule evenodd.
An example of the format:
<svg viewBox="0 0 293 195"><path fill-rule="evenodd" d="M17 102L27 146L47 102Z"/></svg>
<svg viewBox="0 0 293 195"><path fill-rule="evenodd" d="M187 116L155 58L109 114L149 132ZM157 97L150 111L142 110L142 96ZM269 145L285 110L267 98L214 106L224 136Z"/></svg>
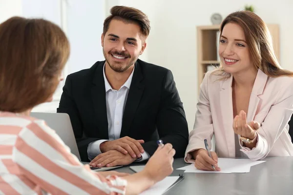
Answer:
<svg viewBox="0 0 293 195"><path fill-rule="evenodd" d="M81 160L86 162L89 161L87 155L88 144L92 141L99 140L96 137L83 137L84 127L83 122L74 100L72 93L72 75L68 75L63 87L63 93L60 99L59 108L57 113L67 113L70 117L71 125L73 128L74 136L76 138L78 150L81 156Z"/></svg>

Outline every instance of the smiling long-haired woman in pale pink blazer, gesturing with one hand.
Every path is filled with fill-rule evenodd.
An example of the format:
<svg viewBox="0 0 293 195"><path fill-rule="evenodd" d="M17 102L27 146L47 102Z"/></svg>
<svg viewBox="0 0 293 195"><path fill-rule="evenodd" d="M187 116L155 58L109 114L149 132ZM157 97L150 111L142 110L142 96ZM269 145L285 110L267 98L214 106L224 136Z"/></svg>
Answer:
<svg viewBox="0 0 293 195"><path fill-rule="evenodd" d="M263 20L248 11L230 14L220 27L220 68L201 84L186 162L219 171L219 157L293 156L288 121L293 113L293 72L283 70ZM216 152L208 156L204 139Z"/></svg>

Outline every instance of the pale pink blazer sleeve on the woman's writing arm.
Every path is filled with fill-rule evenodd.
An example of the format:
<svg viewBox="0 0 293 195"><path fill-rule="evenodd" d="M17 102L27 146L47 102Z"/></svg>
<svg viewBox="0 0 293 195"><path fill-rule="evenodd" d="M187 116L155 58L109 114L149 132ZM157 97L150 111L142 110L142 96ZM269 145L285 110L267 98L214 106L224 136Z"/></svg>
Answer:
<svg viewBox="0 0 293 195"><path fill-rule="evenodd" d="M200 86L200 93L198 103L196 105L197 111L195 114L195 122L193 130L189 134L188 146L185 152L184 160L192 162L194 159L189 154L197 149L206 149L204 139L207 139L209 147L211 147L211 138L213 135L213 124L209 106L208 96L208 78L209 72L205 75Z"/></svg>

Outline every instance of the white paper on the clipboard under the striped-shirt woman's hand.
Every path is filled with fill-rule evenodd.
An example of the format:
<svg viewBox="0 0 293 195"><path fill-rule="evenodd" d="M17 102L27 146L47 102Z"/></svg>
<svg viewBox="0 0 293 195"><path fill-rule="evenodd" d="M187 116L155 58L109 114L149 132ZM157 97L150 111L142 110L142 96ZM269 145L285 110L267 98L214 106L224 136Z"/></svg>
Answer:
<svg viewBox="0 0 293 195"><path fill-rule="evenodd" d="M166 190L177 181L179 176L167 176L140 195L163 195Z"/></svg>

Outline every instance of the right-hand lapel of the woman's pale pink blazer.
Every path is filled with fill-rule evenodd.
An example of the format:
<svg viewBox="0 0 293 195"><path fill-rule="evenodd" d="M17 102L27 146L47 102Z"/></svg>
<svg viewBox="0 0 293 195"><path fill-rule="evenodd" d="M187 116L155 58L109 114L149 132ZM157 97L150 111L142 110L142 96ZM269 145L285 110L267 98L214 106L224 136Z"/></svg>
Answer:
<svg viewBox="0 0 293 195"><path fill-rule="evenodd" d="M258 69L249 100L247 122L254 120L255 113L259 110L260 98L258 96L263 93L267 80L268 76Z"/></svg>

